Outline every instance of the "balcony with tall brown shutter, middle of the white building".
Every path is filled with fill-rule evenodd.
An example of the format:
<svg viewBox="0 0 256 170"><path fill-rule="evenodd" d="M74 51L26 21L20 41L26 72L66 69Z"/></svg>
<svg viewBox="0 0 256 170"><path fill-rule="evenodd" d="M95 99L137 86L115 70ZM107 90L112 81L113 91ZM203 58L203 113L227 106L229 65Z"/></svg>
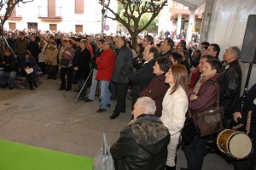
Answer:
<svg viewBox="0 0 256 170"><path fill-rule="evenodd" d="M38 6L38 18L45 21L61 21L62 7Z"/></svg>

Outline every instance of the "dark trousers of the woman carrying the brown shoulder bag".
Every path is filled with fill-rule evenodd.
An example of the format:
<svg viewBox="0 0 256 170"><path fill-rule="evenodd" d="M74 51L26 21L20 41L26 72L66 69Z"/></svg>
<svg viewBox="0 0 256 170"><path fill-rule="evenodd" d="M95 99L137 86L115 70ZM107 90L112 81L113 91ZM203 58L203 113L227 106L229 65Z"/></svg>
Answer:
<svg viewBox="0 0 256 170"><path fill-rule="evenodd" d="M184 146L189 170L201 170L207 151L207 138L196 135L191 143Z"/></svg>

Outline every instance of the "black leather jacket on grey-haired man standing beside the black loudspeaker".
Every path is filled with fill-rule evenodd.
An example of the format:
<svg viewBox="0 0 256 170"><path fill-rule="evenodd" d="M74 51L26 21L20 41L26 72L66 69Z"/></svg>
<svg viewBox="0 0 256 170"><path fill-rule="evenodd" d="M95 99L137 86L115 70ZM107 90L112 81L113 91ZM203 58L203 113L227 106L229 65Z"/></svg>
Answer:
<svg viewBox="0 0 256 170"><path fill-rule="evenodd" d="M238 60L234 60L230 62L230 64L224 65L219 81L219 104L224 106L228 116L231 116L241 91L241 66L238 63Z"/></svg>

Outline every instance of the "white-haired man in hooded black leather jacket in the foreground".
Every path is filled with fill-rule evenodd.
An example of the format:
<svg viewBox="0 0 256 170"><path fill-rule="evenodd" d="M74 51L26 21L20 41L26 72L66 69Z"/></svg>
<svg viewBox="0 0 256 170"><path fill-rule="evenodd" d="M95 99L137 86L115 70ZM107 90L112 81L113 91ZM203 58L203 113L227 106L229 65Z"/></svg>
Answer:
<svg viewBox="0 0 256 170"><path fill-rule="evenodd" d="M170 133L160 118L154 117L155 110L153 99L137 99L134 119L110 148L116 170L165 169Z"/></svg>

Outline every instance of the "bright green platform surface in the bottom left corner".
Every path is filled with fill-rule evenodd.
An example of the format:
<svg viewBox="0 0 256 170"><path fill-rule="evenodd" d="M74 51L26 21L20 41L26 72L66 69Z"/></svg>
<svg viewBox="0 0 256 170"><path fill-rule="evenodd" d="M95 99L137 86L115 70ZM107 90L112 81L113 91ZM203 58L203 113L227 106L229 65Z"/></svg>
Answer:
<svg viewBox="0 0 256 170"><path fill-rule="evenodd" d="M0 170L91 170L93 159L0 140Z"/></svg>

